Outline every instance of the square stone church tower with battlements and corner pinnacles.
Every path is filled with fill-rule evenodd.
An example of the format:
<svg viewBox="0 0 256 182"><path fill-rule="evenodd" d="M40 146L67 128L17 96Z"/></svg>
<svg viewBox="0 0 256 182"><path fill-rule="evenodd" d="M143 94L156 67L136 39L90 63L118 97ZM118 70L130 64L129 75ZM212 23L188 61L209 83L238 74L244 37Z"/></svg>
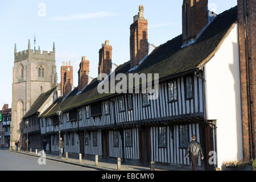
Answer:
<svg viewBox="0 0 256 182"><path fill-rule="evenodd" d="M55 45L50 52L28 49L16 52L14 48L13 96L11 104L11 125L13 128L13 146L16 139L22 141L20 121L30 110L31 105L41 93L57 85L55 65Z"/></svg>

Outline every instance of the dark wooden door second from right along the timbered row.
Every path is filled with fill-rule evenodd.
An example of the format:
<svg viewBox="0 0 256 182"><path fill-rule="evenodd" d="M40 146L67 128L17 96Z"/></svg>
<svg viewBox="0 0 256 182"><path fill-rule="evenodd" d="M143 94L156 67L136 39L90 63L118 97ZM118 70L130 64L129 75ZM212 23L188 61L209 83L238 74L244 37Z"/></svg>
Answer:
<svg viewBox="0 0 256 182"><path fill-rule="evenodd" d="M151 148L150 148L150 130L141 129L139 131L139 146L141 164L150 164Z"/></svg>

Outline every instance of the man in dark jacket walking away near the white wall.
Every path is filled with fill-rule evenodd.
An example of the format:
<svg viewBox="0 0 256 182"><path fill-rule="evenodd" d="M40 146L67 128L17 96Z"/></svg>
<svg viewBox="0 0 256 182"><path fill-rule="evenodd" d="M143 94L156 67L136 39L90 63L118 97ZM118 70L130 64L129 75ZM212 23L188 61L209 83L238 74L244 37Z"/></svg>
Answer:
<svg viewBox="0 0 256 182"><path fill-rule="evenodd" d="M193 171L197 171L197 162L199 158L199 152L201 153L201 159L204 160L204 155L202 152L201 144L196 141L196 135L192 135L192 141L189 142L185 158L189 153L189 157L192 162Z"/></svg>

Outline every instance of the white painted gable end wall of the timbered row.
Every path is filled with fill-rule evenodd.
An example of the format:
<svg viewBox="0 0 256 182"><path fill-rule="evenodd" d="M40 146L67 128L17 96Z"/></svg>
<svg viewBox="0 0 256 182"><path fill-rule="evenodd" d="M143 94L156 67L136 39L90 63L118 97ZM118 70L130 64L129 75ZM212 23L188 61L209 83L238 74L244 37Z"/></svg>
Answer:
<svg viewBox="0 0 256 182"><path fill-rule="evenodd" d="M243 158L238 52L236 25L214 57L205 65L208 119L217 119L219 168L226 160Z"/></svg>

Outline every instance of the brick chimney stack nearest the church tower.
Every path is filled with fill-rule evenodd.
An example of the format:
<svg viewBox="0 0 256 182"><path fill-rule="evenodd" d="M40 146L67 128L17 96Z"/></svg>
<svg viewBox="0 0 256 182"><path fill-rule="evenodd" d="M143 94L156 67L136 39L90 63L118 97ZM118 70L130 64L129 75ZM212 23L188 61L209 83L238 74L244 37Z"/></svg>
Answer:
<svg viewBox="0 0 256 182"><path fill-rule="evenodd" d="M61 66L61 95L66 96L73 86L73 67L71 61L68 63L63 62Z"/></svg>

